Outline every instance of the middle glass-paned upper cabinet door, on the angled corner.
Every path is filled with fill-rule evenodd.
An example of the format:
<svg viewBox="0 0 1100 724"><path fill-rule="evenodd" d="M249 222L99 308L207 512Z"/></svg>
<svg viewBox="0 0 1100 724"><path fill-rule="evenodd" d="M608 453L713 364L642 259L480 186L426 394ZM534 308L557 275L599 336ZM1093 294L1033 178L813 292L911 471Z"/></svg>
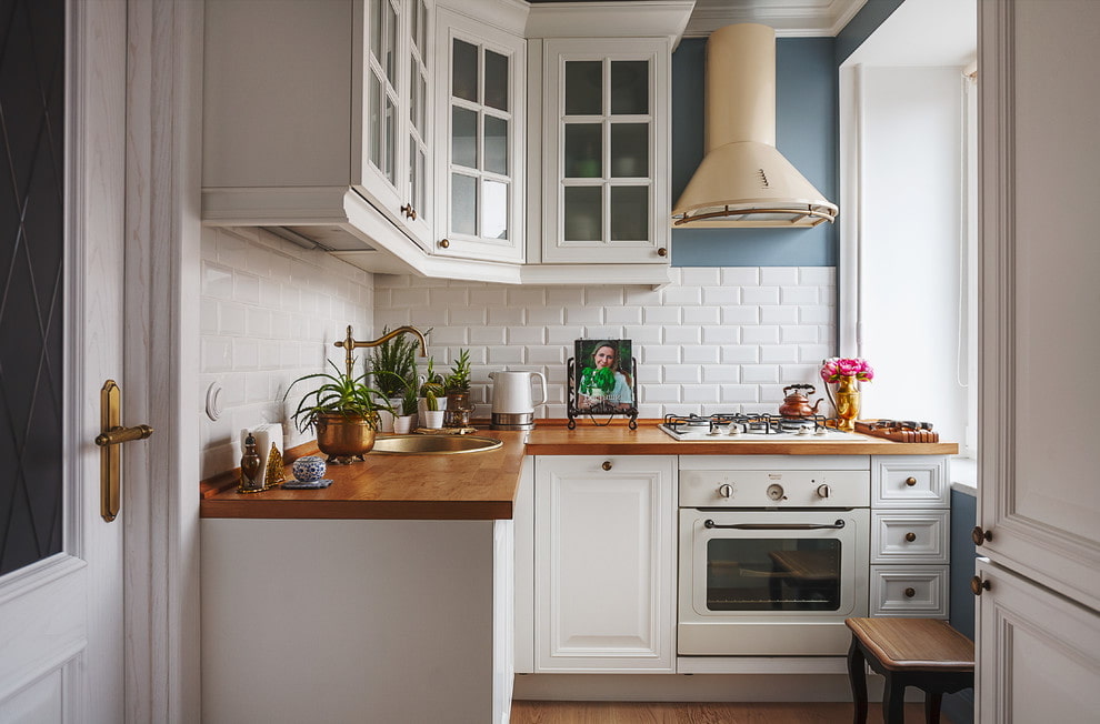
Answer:
<svg viewBox="0 0 1100 724"><path fill-rule="evenodd" d="M524 41L440 8L434 253L522 262Z"/></svg>

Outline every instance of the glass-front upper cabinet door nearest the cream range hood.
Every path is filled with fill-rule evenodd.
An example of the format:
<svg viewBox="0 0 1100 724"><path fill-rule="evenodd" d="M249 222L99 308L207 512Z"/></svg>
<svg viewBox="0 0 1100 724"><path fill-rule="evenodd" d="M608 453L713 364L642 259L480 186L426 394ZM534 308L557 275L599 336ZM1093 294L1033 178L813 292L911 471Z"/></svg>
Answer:
<svg viewBox="0 0 1100 724"><path fill-rule="evenodd" d="M668 263L664 39L544 46L544 262Z"/></svg>

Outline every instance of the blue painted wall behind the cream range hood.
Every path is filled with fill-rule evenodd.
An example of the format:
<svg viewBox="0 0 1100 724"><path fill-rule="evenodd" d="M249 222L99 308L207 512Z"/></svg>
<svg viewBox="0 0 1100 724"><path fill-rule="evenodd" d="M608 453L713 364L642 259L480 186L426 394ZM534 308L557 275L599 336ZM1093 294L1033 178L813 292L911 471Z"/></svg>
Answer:
<svg viewBox="0 0 1100 724"><path fill-rule="evenodd" d="M707 41L672 53L672 200L703 155ZM827 199L838 195L838 86L832 38L776 41L776 145ZM843 208L841 208L841 213ZM673 267L833 267L834 224L813 229L673 229Z"/></svg>

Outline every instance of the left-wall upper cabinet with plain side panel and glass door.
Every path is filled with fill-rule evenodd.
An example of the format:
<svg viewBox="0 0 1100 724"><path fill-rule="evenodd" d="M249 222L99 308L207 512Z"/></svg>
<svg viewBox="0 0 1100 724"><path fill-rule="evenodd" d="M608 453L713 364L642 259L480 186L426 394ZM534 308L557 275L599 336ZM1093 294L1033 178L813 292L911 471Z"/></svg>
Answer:
<svg viewBox="0 0 1100 724"><path fill-rule="evenodd" d="M207 2L204 220L323 229L373 209L427 248L432 16L433 0Z"/></svg>

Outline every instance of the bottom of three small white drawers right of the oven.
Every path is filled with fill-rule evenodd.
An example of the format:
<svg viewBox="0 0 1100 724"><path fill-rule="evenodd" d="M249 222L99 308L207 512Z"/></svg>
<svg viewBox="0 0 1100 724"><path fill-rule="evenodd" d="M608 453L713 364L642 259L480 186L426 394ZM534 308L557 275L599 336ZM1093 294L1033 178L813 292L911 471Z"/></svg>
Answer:
<svg viewBox="0 0 1100 724"><path fill-rule="evenodd" d="M946 565L872 565L872 616L947 619L950 574Z"/></svg>

